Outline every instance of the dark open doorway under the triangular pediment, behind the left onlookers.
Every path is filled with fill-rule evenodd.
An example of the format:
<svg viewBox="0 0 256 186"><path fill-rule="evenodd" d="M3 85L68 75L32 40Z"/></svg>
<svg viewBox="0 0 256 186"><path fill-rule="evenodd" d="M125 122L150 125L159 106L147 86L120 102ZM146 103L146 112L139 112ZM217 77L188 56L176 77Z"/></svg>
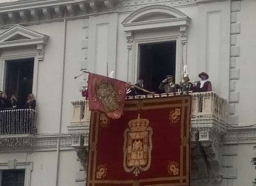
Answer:
<svg viewBox="0 0 256 186"><path fill-rule="evenodd" d="M8 99L15 95L18 108L24 108L32 93L33 72L34 58L7 61L5 91Z"/></svg>

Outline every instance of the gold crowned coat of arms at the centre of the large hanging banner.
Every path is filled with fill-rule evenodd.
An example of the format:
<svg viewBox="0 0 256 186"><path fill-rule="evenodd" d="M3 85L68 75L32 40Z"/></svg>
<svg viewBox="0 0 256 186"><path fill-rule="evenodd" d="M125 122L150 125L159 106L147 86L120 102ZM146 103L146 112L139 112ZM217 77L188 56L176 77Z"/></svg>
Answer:
<svg viewBox="0 0 256 186"><path fill-rule="evenodd" d="M124 169L135 176L147 171L151 164L153 130L148 127L148 119L138 118L128 122L129 128L124 132Z"/></svg>

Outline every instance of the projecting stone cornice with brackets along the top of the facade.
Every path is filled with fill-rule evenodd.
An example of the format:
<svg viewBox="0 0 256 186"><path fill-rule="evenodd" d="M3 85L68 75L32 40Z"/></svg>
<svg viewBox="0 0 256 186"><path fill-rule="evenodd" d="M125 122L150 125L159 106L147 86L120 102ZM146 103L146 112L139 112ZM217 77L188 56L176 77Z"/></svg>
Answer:
<svg viewBox="0 0 256 186"><path fill-rule="evenodd" d="M83 19L115 11L134 11L149 5L196 6L216 0L22 0L0 3L0 28Z"/></svg>

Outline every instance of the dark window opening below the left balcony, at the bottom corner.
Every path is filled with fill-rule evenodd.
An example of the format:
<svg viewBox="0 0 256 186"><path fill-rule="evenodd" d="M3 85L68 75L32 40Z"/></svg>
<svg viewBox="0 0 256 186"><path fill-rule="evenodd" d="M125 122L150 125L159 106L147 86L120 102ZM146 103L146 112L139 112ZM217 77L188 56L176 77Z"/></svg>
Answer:
<svg viewBox="0 0 256 186"><path fill-rule="evenodd" d="M24 186L25 169L3 170L2 186Z"/></svg>

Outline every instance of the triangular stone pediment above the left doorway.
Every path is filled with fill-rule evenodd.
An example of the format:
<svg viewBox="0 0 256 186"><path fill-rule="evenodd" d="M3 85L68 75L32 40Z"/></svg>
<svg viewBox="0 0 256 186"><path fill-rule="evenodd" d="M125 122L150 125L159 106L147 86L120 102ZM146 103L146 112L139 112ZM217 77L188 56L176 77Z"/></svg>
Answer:
<svg viewBox="0 0 256 186"><path fill-rule="evenodd" d="M44 44L49 36L21 25L14 25L0 34L0 48Z"/></svg>

